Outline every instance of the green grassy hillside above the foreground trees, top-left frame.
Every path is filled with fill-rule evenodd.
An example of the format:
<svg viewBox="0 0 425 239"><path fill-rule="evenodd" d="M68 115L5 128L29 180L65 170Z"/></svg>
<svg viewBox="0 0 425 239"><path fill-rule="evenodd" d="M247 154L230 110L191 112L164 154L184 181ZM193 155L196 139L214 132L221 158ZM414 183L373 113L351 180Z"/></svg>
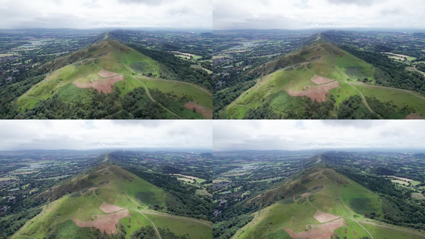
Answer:
<svg viewBox="0 0 425 239"><path fill-rule="evenodd" d="M69 62L74 63L64 65ZM110 91L108 87L117 86L120 88L123 97L136 87L144 88L143 84L145 84L147 88L156 88L164 93L170 92L178 97L186 96L206 111L203 114L204 118L212 118L212 94L210 91L191 83L160 79L160 77L167 78L173 75L173 71L139 51L116 41L102 40L84 50L53 60L40 66L40 68L51 69L52 71L48 73L44 80L33 85L18 98L17 105L20 106L21 111L26 108L34 108L40 101L39 98L46 100L54 94L58 94L59 99L64 102L90 102L96 89L80 88L82 87L80 85L98 83L97 91L100 91L101 85L109 80L109 77L113 77L115 73L118 76L114 77L113 80L118 80L118 82L109 83L110 85L107 85L106 89L102 89L104 93L107 90ZM106 73L109 71L109 75L102 77L99 75L102 74L100 73L101 70L106 71ZM134 79L133 76L138 77L143 84ZM94 86L91 85L90 87ZM179 107L183 107L185 103L179 105ZM192 108L187 111L192 111ZM200 117L202 118L202 116Z"/></svg>

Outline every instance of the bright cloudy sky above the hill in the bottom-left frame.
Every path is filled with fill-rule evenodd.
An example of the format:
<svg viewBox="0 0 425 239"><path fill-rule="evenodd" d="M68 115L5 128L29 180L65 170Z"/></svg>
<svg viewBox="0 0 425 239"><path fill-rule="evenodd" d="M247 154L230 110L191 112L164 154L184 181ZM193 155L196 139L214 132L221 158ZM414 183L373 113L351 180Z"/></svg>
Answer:
<svg viewBox="0 0 425 239"><path fill-rule="evenodd" d="M0 150L212 148L208 120L0 120Z"/></svg>

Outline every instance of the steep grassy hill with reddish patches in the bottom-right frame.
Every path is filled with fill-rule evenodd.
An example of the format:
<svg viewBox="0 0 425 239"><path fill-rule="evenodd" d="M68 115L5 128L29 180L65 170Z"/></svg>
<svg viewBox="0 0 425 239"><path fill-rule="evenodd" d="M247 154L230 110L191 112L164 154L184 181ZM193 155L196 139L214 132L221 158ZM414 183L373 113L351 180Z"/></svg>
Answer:
<svg viewBox="0 0 425 239"><path fill-rule="evenodd" d="M263 209L232 238L425 238L423 232L365 218L363 213L386 210L382 197L322 165L246 202L250 204Z"/></svg>

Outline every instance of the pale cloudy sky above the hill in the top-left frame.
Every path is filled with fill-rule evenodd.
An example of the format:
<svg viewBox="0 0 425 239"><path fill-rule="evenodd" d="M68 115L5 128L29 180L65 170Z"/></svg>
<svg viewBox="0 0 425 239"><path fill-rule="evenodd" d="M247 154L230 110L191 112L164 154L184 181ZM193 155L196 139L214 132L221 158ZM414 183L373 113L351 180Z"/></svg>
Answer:
<svg viewBox="0 0 425 239"><path fill-rule="evenodd" d="M0 0L2 28L212 28L211 0Z"/></svg>

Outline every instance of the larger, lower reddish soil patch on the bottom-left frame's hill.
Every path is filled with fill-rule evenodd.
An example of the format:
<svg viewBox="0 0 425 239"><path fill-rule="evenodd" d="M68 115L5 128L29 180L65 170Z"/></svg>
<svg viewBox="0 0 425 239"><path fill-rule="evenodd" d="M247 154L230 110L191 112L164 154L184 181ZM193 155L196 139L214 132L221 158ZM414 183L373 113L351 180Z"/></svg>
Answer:
<svg viewBox="0 0 425 239"><path fill-rule="evenodd" d="M95 228L99 228L101 232L105 230L106 233L111 234L111 233L116 233L115 224L118 223L118 220L122 219L123 217L130 216L130 213L128 213L128 209L125 209L119 212L110 213L106 215L97 214L93 216L97 216L97 218L87 222L80 222L78 219L75 219L75 218L72 219L72 221L75 222L77 226L79 227L82 227L82 228L95 227Z"/></svg>

